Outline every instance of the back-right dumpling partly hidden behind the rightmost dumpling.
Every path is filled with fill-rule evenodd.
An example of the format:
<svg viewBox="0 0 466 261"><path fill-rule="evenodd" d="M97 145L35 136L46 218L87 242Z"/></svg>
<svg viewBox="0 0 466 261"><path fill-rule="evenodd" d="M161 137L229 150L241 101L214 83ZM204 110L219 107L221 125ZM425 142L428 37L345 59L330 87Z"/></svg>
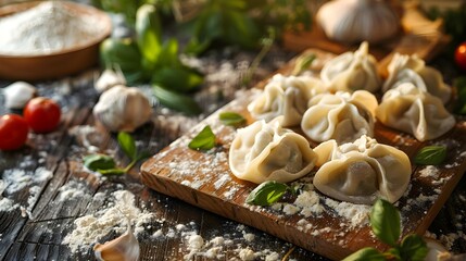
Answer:
<svg viewBox="0 0 466 261"><path fill-rule="evenodd" d="M414 55L395 53L388 65L389 77L383 83L382 91L393 89L403 83L412 83L417 88L439 97L445 104L451 96L452 88L443 83L442 74L424 60Z"/></svg>

